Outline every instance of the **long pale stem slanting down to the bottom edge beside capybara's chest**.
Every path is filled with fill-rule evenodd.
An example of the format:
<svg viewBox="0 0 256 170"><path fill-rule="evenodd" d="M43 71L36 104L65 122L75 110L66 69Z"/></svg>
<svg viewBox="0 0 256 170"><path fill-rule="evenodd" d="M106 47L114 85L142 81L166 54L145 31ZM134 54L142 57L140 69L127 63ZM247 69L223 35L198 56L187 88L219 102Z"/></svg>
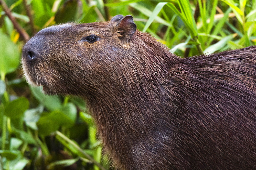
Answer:
<svg viewBox="0 0 256 170"><path fill-rule="evenodd" d="M95 165L97 165L100 169L105 170L105 168L98 163L97 161L95 161L89 154L87 154L86 152L83 151L82 148L80 148L75 142L73 142L72 140L70 140L68 137L66 137L64 134L62 134L59 131L56 131L56 136L61 137L63 140L65 140L66 142L68 142L70 145L72 145L74 148L76 148L80 153L82 153L88 160L90 160L92 163L94 163ZM60 141L61 142L61 141Z"/></svg>

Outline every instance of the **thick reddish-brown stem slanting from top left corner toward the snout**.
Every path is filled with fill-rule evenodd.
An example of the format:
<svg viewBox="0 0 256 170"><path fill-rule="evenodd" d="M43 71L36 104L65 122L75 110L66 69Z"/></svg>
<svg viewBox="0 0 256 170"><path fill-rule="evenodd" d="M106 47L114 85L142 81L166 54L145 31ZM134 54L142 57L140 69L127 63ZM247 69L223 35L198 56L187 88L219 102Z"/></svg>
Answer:
<svg viewBox="0 0 256 170"><path fill-rule="evenodd" d="M23 37L24 40L29 40L28 33L19 25L19 23L16 21L14 16L12 15L11 10L8 8L6 3L3 0L0 0L0 5L2 5L3 10L5 11L5 14L7 17L12 21L14 28L18 31L18 33Z"/></svg>

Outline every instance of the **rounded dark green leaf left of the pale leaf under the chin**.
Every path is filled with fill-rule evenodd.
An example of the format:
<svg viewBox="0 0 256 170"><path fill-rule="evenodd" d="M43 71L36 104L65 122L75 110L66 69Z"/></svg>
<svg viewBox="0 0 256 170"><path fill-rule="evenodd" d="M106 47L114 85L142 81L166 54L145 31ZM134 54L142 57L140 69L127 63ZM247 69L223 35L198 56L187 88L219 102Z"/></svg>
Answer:
<svg viewBox="0 0 256 170"><path fill-rule="evenodd" d="M25 97L20 97L11 101L5 107L4 114L10 118L19 118L23 116L24 112L29 108L29 101Z"/></svg>

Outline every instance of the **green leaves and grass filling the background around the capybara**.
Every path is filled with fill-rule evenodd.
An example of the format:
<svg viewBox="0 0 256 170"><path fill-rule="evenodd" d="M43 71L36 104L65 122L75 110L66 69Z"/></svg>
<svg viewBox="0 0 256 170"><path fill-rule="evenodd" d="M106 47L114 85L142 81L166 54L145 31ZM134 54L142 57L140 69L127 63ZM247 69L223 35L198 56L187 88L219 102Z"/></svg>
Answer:
<svg viewBox="0 0 256 170"><path fill-rule="evenodd" d="M42 28L118 14L181 57L256 42L256 0L0 0L0 169L109 168L83 100L29 87L20 56Z"/></svg>

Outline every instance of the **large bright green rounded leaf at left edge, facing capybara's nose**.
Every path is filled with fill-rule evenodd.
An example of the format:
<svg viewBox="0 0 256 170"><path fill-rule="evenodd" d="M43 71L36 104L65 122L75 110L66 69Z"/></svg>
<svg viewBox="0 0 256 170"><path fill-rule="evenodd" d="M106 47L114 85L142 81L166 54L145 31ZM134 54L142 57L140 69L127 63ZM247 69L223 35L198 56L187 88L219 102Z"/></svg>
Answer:
<svg viewBox="0 0 256 170"><path fill-rule="evenodd" d="M0 76L13 72L19 65L19 49L0 29Z"/></svg>

